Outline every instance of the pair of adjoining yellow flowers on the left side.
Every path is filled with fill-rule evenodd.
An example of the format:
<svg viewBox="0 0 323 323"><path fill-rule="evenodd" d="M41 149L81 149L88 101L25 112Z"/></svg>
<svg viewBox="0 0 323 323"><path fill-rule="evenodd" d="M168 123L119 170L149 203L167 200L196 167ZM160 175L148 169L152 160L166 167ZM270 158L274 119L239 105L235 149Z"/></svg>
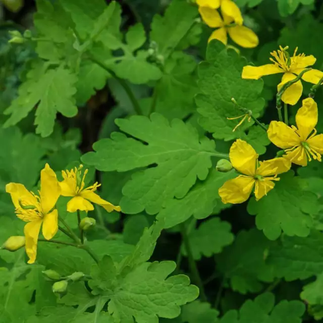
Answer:
<svg viewBox="0 0 323 323"><path fill-rule="evenodd" d="M82 166L71 171L63 171L64 180L59 182L55 172L46 164L40 172L38 195L28 191L22 184L7 184L6 191L11 195L17 217L27 222L24 235L28 263L35 262L40 228L42 227L42 235L46 240L52 239L58 232L59 212L56 203L60 196L72 197L67 204L69 212L93 210L91 202L101 205L108 212L121 210L120 206L103 200L95 193L98 183L84 188L86 174L87 170L82 175Z"/></svg>

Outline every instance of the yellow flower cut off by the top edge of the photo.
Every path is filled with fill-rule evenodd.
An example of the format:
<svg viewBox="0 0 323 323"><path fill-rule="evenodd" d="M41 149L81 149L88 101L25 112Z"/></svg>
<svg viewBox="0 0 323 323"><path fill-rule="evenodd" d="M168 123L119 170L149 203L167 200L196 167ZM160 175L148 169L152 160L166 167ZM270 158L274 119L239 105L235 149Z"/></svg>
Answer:
<svg viewBox="0 0 323 323"><path fill-rule="evenodd" d="M216 5L218 5L218 2L216 1L216 5L213 4L212 6L206 6L208 3L211 2L206 0L200 0L197 2L197 4L201 4L198 11L203 21L211 28L218 28L212 32L208 41L218 39L227 45L227 33L229 33L231 39L241 47L253 48L258 45L259 40L257 35L251 29L242 26L243 19L240 10L235 3L230 0L221 1L221 13L223 19L219 12L214 8L217 7Z"/></svg>

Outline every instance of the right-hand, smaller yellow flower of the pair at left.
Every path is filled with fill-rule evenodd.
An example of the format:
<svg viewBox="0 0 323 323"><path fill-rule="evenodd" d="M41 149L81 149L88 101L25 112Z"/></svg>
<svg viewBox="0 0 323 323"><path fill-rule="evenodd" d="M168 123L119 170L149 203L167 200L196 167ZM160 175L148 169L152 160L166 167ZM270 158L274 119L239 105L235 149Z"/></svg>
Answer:
<svg viewBox="0 0 323 323"><path fill-rule="evenodd" d="M85 170L83 177L81 177L82 168L83 165L79 168L75 167L71 171L62 171L64 180L60 182L61 194L63 196L73 196L67 203L67 210L69 212L75 212L76 210L91 211L94 209L92 203L95 203L101 205L108 212L112 212L113 210L120 211L120 206L115 206L94 193L101 184L96 182L92 186L84 188L84 179L88 170Z"/></svg>

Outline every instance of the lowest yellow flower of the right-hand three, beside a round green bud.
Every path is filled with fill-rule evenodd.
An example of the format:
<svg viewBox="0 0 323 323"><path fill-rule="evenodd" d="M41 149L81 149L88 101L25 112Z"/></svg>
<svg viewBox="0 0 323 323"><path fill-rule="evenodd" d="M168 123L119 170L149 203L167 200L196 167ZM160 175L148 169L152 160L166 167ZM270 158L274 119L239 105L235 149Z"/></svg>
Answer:
<svg viewBox="0 0 323 323"><path fill-rule="evenodd" d="M224 183L219 189L223 203L242 203L246 201L255 187L254 194L258 201L274 188L274 181L279 181L278 174L287 172L291 163L279 157L258 162L258 154L247 142L237 139L230 148L230 161L242 175Z"/></svg>

